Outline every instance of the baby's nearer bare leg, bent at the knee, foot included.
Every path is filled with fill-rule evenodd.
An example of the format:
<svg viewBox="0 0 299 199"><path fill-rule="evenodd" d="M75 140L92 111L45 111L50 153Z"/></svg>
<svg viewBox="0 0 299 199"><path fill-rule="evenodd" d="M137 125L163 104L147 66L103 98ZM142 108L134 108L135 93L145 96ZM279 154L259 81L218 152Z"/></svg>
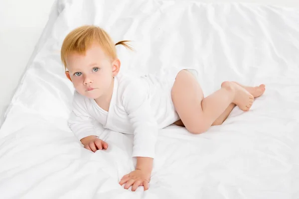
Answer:
<svg viewBox="0 0 299 199"><path fill-rule="evenodd" d="M249 110L253 96L233 82L224 82L221 89L204 98L194 76L180 71L171 90L174 107L182 123L191 133L205 132L231 103L242 110Z"/></svg>

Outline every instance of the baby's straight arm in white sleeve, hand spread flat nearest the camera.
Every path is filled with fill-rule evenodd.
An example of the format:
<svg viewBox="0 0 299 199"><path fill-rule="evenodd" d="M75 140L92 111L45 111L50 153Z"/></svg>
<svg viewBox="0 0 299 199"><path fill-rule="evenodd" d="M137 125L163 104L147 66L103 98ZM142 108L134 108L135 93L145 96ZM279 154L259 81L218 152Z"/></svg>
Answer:
<svg viewBox="0 0 299 199"><path fill-rule="evenodd" d="M155 156L158 126L147 95L145 88L138 82L130 83L123 93L123 104L134 128L132 156L137 158L137 165L136 170L124 176L120 184L126 183L125 189L132 185L132 191L138 186L148 189Z"/></svg>

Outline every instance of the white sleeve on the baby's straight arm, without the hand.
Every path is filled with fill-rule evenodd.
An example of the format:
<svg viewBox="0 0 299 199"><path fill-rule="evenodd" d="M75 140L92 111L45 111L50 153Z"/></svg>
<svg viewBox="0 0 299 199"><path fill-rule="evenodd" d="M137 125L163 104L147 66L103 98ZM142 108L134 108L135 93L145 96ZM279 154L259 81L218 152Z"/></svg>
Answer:
<svg viewBox="0 0 299 199"><path fill-rule="evenodd" d="M143 84L131 82L124 90L122 100L134 129L132 156L154 158L158 125Z"/></svg>

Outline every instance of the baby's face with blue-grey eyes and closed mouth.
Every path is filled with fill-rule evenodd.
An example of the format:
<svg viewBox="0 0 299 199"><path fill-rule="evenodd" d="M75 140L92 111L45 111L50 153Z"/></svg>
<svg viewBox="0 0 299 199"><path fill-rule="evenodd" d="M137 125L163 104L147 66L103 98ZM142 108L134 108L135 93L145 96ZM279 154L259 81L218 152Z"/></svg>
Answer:
<svg viewBox="0 0 299 199"><path fill-rule="evenodd" d="M88 98L97 99L107 94L115 73L114 63L102 48L94 44L85 55L70 54L66 59L70 79L76 91ZM67 73L67 72L66 72Z"/></svg>

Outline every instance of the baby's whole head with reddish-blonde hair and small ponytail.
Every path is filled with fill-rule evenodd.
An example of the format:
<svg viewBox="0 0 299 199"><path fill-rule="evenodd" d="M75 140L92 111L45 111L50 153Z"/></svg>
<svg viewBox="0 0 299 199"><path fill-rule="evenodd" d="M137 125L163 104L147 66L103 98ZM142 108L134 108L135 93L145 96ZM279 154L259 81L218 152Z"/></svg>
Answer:
<svg viewBox="0 0 299 199"><path fill-rule="evenodd" d="M66 36L61 60L79 94L97 99L107 93L121 66L115 46L132 49L126 42L114 44L105 30L93 25L78 27Z"/></svg>

